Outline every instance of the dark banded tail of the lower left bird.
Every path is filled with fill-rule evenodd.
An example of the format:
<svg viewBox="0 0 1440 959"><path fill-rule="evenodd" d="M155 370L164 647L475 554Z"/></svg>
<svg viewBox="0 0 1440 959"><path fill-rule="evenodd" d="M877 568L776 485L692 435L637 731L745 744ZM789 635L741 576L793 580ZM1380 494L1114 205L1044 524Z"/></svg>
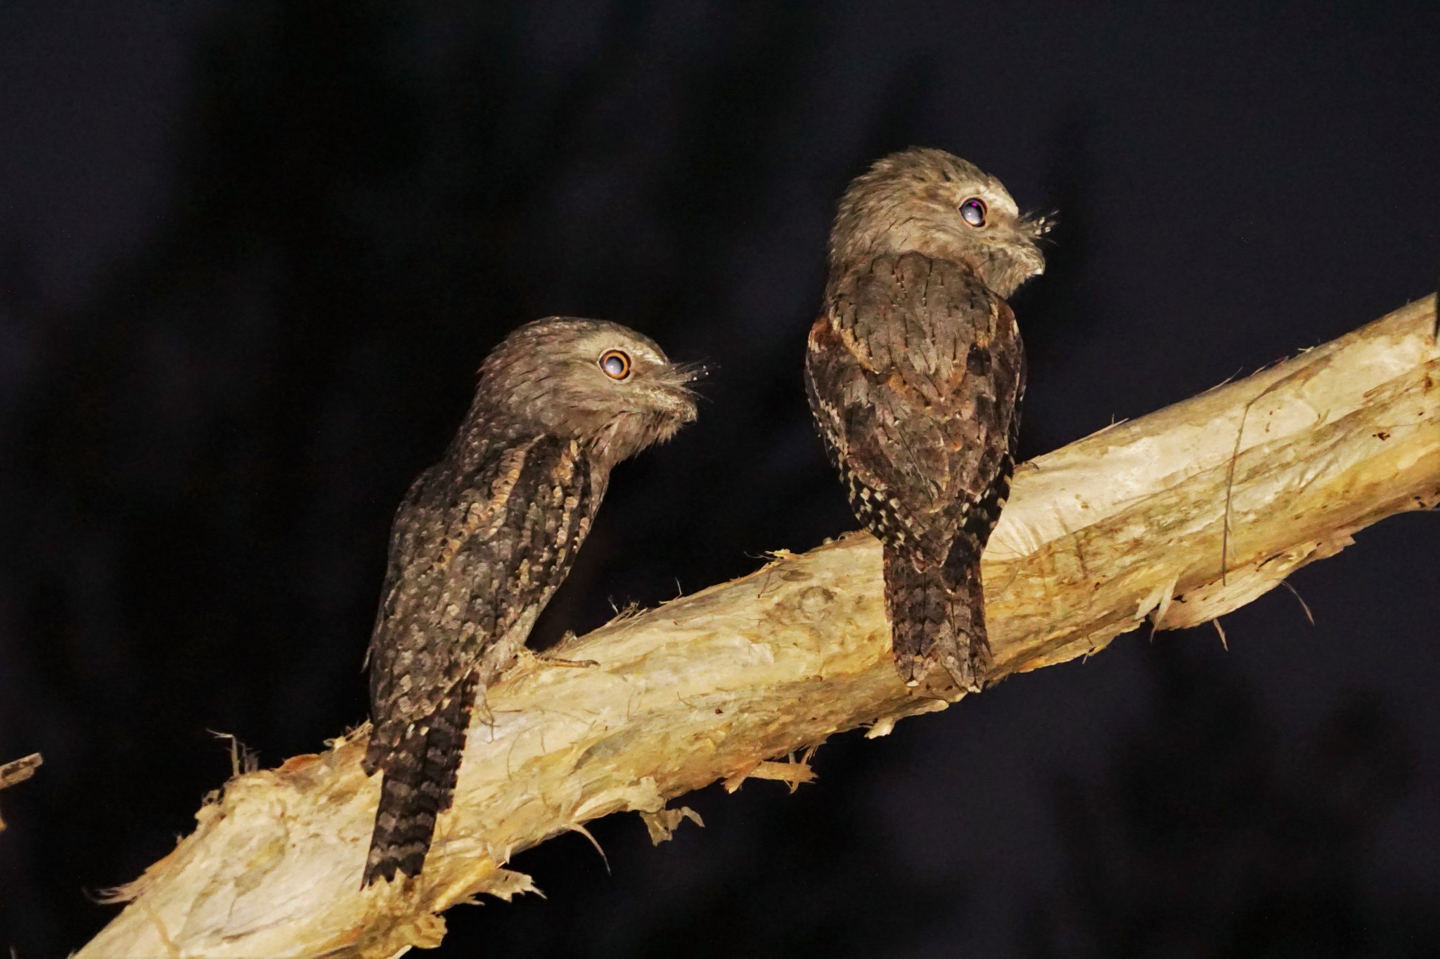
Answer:
<svg viewBox="0 0 1440 959"><path fill-rule="evenodd" d="M474 694L471 677L426 719L393 729L382 725L372 733L364 769L380 769L384 779L361 887L382 876L393 880L397 870L419 876L435 820L455 795Z"/></svg>

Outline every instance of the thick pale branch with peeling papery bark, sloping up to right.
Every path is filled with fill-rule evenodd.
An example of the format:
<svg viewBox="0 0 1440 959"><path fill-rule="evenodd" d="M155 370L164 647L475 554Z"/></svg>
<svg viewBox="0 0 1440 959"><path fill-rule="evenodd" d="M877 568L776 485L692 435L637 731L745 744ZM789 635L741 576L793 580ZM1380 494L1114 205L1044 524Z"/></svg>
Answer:
<svg viewBox="0 0 1440 959"><path fill-rule="evenodd" d="M1086 656L1151 620L1212 620L1391 513L1440 502L1434 298L1247 380L1022 466L985 554L999 671ZM1227 522L1228 520L1228 522ZM1228 533L1225 529L1228 528ZM665 838L665 802L717 779L808 778L786 756L919 700L890 663L880 548L865 535L621 618L527 659L471 729L455 808L409 894L361 894L376 782L364 730L233 778L81 956L392 956L439 913L533 889L510 855L625 809Z"/></svg>

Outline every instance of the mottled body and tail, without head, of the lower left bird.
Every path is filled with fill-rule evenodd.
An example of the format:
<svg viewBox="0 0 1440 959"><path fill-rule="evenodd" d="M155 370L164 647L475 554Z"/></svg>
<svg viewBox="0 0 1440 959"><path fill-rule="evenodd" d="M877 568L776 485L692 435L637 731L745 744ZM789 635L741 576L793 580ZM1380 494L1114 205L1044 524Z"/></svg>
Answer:
<svg viewBox="0 0 1440 959"><path fill-rule="evenodd" d="M572 440L467 453L422 474L395 519L367 656L374 729L363 768L384 778L364 884L422 870L475 693L524 643L603 495Z"/></svg>

